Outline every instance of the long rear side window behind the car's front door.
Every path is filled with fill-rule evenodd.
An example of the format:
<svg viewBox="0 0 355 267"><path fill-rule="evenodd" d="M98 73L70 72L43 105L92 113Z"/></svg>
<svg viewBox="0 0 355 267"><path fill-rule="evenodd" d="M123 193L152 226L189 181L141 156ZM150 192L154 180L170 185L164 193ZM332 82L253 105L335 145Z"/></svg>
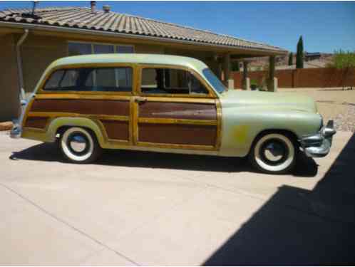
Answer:
<svg viewBox="0 0 355 267"><path fill-rule="evenodd" d="M132 68L72 68L56 70L43 90L132 92Z"/></svg>

